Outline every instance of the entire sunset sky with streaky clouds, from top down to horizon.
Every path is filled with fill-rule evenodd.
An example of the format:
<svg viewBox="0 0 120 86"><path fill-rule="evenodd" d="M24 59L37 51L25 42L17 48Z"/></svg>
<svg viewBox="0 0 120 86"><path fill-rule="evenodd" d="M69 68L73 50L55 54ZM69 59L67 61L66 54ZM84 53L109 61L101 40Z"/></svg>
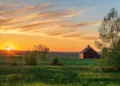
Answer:
<svg viewBox="0 0 120 86"><path fill-rule="evenodd" d="M80 52L94 42L98 28L120 0L0 0L0 49Z"/></svg>

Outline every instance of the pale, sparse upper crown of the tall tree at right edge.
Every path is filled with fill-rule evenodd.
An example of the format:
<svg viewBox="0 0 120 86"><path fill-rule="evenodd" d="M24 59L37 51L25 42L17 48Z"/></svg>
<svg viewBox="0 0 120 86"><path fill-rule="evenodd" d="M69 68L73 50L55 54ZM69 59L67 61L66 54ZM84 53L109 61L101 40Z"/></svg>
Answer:
<svg viewBox="0 0 120 86"><path fill-rule="evenodd" d="M120 38L120 17L115 8L112 8L106 17L104 17L99 27L99 39L95 45L102 48L112 48Z"/></svg>

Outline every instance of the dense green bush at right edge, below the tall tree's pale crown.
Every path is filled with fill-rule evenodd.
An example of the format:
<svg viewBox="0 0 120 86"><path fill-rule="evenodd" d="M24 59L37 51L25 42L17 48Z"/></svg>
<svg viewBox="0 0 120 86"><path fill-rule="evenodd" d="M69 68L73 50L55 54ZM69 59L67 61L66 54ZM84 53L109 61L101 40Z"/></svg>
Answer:
<svg viewBox="0 0 120 86"><path fill-rule="evenodd" d="M120 70L120 40L110 49L102 50L102 61L104 67L113 67L112 70ZM105 68L106 69L106 68ZM107 68L107 70L109 70ZM115 71L114 70L114 71Z"/></svg>

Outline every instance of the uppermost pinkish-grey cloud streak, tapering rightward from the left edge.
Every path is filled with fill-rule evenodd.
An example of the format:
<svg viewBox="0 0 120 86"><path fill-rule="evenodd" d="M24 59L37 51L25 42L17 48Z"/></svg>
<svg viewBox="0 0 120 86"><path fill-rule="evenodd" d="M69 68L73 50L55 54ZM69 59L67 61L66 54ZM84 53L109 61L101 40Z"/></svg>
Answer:
<svg viewBox="0 0 120 86"><path fill-rule="evenodd" d="M40 5L35 5L35 6L19 6L17 7L16 5L14 6L13 4L13 7L14 8L17 8L17 9L13 9L13 7L8 7L7 6L1 6L2 10L0 12L0 15L4 15L4 16L7 16L7 17L15 17L15 16L23 16L23 15L26 15L26 14L33 14L33 13L36 13L36 11L40 11L41 9L45 9L45 8L49 8L49 7L52 7L53 4L40 4ZM12 9L12 10L7 10L7 9ZM24 17L24 16L23 16Z"/></svg>

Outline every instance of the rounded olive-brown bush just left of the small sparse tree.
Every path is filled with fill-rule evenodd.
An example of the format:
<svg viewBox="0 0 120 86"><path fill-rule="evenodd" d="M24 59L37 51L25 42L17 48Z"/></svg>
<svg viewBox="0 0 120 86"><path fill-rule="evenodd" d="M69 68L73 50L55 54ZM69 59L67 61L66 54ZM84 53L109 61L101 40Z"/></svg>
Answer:
<svg viewBox="0 0 120 86"><path fill-rule="evenodd" d="M37 65L37 59L36 59L36 55L34 52L28 52L25 56L25 64L26 65Z"/></svg>

